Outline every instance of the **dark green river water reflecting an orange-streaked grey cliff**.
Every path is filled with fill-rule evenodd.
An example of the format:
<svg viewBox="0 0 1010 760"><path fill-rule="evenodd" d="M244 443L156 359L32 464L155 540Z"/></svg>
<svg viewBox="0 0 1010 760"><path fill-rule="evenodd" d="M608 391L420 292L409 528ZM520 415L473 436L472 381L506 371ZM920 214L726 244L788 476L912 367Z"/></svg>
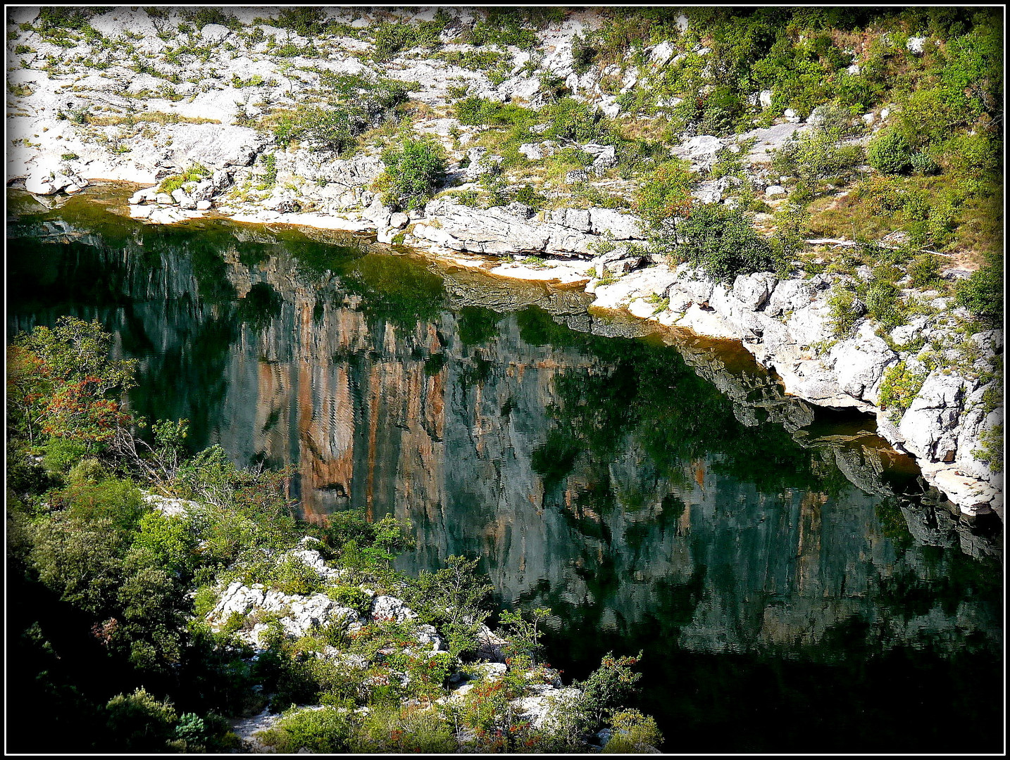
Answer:
<svg viewBox="0 0 1010 760"><path fill-rule="evenodd" d="M1001 751L1001 527L872 419L577 290L87 195L9 192L8 339L97 318L135 412L294 463L308 520L409 520L401 569L481 557L499 605L551 609L567 678L642 651L666 752Z"/></svg>

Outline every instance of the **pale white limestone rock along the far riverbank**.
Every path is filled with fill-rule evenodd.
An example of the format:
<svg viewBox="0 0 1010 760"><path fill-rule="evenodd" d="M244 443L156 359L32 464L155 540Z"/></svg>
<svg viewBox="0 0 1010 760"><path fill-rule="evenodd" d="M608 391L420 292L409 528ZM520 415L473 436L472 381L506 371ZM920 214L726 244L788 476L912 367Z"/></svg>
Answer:
<svg viewBox="0 0 1010 760"><path fill-rule="evenodd" d="M856 302L851 324L839 333L832 293L869 279L868 267L854 277L811 276L797 265L788 276L758 273L720 283L648 253L645 223L625 208L589 203L582 204L588 208L535 211L515 201L486 209L466 205L459 194L476 191L478 179L501 156L484 146L468 146L480 136L480 127L434 111L424 112L412 129L431 135L449 151L454 162L446 190L451 192L408 212L395 212L381 200L375 186L384 170L378 150L366 147L337 157L305 145L281 145L273 134L244 125L268 106L295 105L327 72L378 73L418 82L410 101L428 109L449 102L450 89L461 82L482 98L535 106L538 98L543 102L542 82L549 74L563 77L577 97L616 116L620 107L600 87L607 75L575 71L573 40L599 23L596 15L572 14L537 32L535 72L544 76L529 71L529 53L510 48L508 76L500 80L406 51L377 68L362 57L372 43L349 35L334 36L325 45L316 40L319 55L306 57L299 51L309 44L307 38L256 22L256 16L269 16L269 10L236 9L244 28L234 29L215 23L184 28L173 12L150 16L111 9L91 19L97 40L85 35L55 41L33 26L37 9L15 9L8 18L13 32L8 45L20 50L21 68L8 76L8 89L14 88L8 99L14 137L8 183L44 200L79 192L93 180L135 182L150 187L129 198L128 213L147 223L223 214L241 222L375 232L381 242L408 245L503 277L581 285L595 296L596 308L627 309L667 327L740 340L762 364L775 369L789 394L820 406L874 414L881 435L915 456L925 478L963 512L995 510L1002 516L1002 472L994 471L985 451L1003 424L1003 331L973 333L966 327L968 313L953 308L939 292L899 282L902 301L917 316L884 330ZM432 14L422 11L413 20ZM348 28L376 22L368 14L344 20ZM453 23L465 27L472 22L461 9ZM451 27L443 32L449 53L474 49L451 43L452 33ZM138 72L117 58L110 40L120 40L134 56L155 63ZM285 49L297 55L279 52ZM649 66L666 66L672 52L654 46ZM182 81L184 73L196 76ZM630 77L625 87L630 91L637 82ZM771 93L754 93L756 104L770 98ZM863 120L877 127L886 121L887 110L868 113ZM735 136L685 135L673 152L698 173L727 155L739 156L746 182L775 204L785 191L771 171L770 151L817 120L816 112L804 122L787 111L780 123ZM539 160L559 147L544 139L524 143L520 150ZM594 179L616 161L612 147L592 141L568 147L592 157L581 174L569 173L570 183L588 183L615 197L628 192L627 182ZM191 175L194 167L201 171ZM167 178L179 179L171 192L161 187ZM694 199L723 202L739 182L732 176L702 182ZM502 260L515 256L524 260ZM956 268L946 273L948 278L965 275Z"/></svg>

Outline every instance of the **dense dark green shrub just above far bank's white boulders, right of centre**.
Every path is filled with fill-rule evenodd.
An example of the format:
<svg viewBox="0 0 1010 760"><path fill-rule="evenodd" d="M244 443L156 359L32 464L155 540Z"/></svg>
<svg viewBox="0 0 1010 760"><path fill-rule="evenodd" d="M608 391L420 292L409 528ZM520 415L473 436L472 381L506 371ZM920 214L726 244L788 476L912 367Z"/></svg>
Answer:
<svg viewBox="0 0 1010 760"><path fill-rule="evenodd" d="M741 209L720 204L697 206L678 225L677 235L682 242L676 255L718 280L728 281L779 265L772 246Z"/></svg>

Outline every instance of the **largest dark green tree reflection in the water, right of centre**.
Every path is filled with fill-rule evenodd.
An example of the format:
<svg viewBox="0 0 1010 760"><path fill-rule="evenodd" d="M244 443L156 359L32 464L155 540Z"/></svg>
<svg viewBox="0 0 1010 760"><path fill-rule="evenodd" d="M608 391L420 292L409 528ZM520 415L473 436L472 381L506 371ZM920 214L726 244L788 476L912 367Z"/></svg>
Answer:
<svg viewBox="0 0 1010 760"><path fill-rule="evenodd" d="M713 471L764 493L835 495L848 487L832 458L800 446L781 424L739 422L732 401L700 377L677 348L577 333L535 307L520 313L519 321L529 342L575 345L600 358L591 367L565 369L554 381L558 401L547 409L553 425L532 459L554 503L581 461L591 487L575 506L592 503L598 515L611 512L610 464L632 441L648 454L656 474L673 482L684 480L686 464L706 459ZM625 507L633 506L627 501Z"/></svg>

